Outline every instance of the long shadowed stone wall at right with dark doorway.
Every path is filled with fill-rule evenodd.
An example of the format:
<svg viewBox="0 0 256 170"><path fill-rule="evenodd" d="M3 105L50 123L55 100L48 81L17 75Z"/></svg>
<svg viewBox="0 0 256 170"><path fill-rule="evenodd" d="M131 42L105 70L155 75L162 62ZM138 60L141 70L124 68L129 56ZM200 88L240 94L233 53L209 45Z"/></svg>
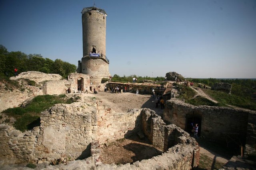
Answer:
<svg viewBox="0 0 256 170"><path fill-rule="evenodd" d="M255 124L255 114L255 111L230 107L192 106L172 99L166 101L163 119L170 124L175 123L184 130L188 130L190 123L195 123L191 121L194 119L198 121L198 134L201 137L220 143L226 143L226 139L234 139L237 143L245 145L246 137L253 139L255 136L256 128L252 125Z"/></svg>

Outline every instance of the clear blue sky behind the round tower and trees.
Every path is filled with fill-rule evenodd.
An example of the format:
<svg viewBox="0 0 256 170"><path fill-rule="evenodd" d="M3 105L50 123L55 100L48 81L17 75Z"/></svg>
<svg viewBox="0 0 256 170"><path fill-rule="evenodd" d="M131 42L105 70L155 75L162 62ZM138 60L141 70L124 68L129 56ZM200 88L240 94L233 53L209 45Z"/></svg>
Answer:
<svg viewBox="0 0 256 170"><path fill-rule="evenodd" d="M256 78L256 0L0 0L0 44L77 66L94 2L112 76Z"/></svg>

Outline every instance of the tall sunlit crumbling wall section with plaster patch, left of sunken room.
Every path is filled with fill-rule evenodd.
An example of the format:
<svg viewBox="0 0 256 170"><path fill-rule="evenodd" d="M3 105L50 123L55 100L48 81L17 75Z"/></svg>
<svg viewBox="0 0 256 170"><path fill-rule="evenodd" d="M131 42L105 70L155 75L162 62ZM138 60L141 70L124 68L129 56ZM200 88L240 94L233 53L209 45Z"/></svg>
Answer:
<svg viewBox="0 0 256 170"><path fill-rule="evenodd" d="M97 132L97 109L86 103L56 104L41 113L35 156L86 158Z"/></svg>

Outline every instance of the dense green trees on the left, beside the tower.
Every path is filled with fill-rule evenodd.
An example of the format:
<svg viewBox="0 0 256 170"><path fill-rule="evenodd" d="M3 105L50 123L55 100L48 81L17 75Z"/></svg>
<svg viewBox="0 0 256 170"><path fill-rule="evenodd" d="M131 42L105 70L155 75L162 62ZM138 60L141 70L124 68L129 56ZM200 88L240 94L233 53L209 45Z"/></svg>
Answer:
<svg viewBox="0 0 256 170"><path fill-rule="evenodd" d="M14 68L18 73L26 71L40 71L47 74L60 74L67 78L68 74L76 71L76 65L56 59L52 61L43 58L40 54L25 54L21 51L8 52L6 47L0 45L0 73L7 77L14 76Z"/></svg>

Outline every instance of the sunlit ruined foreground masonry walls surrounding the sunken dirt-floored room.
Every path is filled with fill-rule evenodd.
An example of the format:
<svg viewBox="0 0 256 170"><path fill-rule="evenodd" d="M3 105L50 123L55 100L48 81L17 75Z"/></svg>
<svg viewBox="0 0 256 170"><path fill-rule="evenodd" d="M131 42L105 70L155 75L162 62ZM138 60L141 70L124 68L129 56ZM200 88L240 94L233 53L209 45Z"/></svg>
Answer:
<svg viewBox="0 0 256 170"><path fill-rule="evenodd" d="M146 119L150 125L147 125L148 122L145 123L146 119L142 117L148 117ZM40 127L25 133L15 130L10 125L0 125L0 147L2 148L0 159L5 164L10 160L12 163L51 162L68 157L87 158L84 160L86 167L95 167L95 169L108 167L191 169L198 166L200 149L195 139L176 125L166 126L161 117L155 115L150 109L132 109L127 113L115 113L100 101L86 98L84 102L56 104L42 112L40 119ZM146 136L151 138L154 146L166 152L134 164L100 163L100 150L97 146L138 131L144 131ZM146 131L149 132L146 133ZM90 154L92 158L89 157ZM70 162L68 165L75 166L73 163Z"/></svg>

